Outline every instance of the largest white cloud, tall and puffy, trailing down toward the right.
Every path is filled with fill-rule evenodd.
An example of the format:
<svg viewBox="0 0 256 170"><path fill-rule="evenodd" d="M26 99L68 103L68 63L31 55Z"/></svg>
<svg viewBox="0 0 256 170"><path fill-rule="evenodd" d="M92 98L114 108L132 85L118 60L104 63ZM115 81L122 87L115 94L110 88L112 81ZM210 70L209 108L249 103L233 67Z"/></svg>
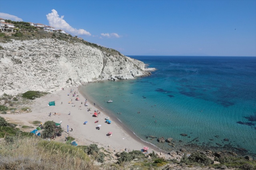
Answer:
<svg viewBox="0 0 256 170"><path fill-rule="evenodd" d="M57 29L65 30L66 32L75 35L91 36L91 34L84 29L77 30L76 28L71 27L65 20L63 20L64 16L59 17L58 12L54 9L52 10L52 13L49 13L46 17L49 25Z"/></svg>

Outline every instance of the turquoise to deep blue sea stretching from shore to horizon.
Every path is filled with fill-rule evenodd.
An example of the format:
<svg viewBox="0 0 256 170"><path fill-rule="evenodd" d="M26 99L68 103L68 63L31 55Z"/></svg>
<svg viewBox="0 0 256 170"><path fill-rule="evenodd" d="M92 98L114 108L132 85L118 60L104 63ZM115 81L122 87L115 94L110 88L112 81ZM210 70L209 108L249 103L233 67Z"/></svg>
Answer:
<svg viewBox="0 0 256 170"><path fill-rule="evenodd" d="M256 154L256 57L129 57L156 71L87 83L81 87L85 97L166 151L190 147ZM161 143L159 137L173 140Z"/></svg>

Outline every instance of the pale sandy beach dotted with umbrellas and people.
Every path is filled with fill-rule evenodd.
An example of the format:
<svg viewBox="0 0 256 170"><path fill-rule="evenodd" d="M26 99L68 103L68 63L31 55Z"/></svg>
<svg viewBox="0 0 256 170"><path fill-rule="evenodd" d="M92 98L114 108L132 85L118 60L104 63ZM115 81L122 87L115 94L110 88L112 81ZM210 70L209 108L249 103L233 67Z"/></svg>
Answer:
<svg viewBox="0 0 256 170"><path fill-rule="evenodd" d="M76 91L76 96L79 95L79 101L76 101L76 96L73 97L71 93ZM106 115L99 106L94 103L89 103L85 106L85 97L81 93L77 93L78 87L69 87L64 90L55 91L51 94L45 95L33 101L33 104L29 107L32 112L28 113L15 113L3 115L8 122L16 123L18 125L32 125L33 121L41 121L43 124L46 121L54 121L61 123L61 127L64 130L62 136L56 138L56 141L65 142L65 136L72 136L78 145L98 144L99 147L104 147L110 151L120 152L125 148L131 150L141 150L144 146L149 147L149 152L152 150L156 152L163 152L162 150L154 147L153 145L143 142L135 136L129 129L123 129L121 122L116 122L117 119L111 119ZM70 93L70 95L68 95ZM55 106L48 106L49 101L55 101ZM81 102L83 104L81 104ZM62 103L62 104L61 104ZM87 108L92 108L91 111L87 111ZM95 110L99 110L101 114L98 117L93 117ZM54 115L56 112L56 115ZM69 115L69 112L71 113ZM51 113L51 116L49 116ZM105 123L105 118L109 117L112 121L111 124ZM95 121L99 120L98 123ZM83 123L87 121L86 125ZM67 132L67 125L69 125L69 132ZM97 130L97 126L101 125L100 130ZM29 132L33 130L24 129ZM70 131L71 128L73 131ZM127 132L128 131L128 132ZM111 136L107 136L108 132L113 132Z"/></svg>

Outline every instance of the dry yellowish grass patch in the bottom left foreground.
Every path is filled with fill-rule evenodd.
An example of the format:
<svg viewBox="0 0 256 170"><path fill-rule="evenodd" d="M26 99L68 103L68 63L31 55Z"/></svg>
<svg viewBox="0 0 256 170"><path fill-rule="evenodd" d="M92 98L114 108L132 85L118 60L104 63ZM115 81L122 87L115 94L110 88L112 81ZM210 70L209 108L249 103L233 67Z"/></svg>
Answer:
<svg viewBox="0 0 256 170"><path fill-rule="evenodd" d="M97 170L80 148L38 137L0 143L0 170Z"/></svg>

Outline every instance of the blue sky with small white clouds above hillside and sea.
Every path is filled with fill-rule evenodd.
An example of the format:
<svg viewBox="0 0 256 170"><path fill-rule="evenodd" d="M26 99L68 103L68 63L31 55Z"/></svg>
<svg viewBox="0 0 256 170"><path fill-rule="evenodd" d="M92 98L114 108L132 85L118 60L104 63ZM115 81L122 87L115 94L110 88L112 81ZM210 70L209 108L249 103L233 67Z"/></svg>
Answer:
<svg viewBox="0 0 256 170"><path fill-rule="evenodd" d="M256 56L256 0L0 0L0 18L124 55Z"/></svg>

